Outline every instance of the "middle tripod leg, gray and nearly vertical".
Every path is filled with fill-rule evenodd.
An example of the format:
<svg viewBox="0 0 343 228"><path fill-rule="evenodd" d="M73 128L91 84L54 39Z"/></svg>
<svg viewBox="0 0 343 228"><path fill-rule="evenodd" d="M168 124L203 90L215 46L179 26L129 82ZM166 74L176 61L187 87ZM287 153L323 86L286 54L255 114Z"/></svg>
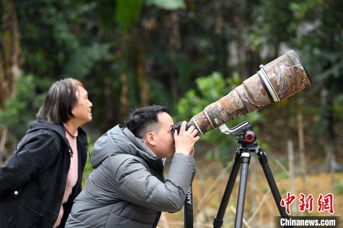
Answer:
<svg viewBox="0 0 343 228"><path fill-rule="evenodd" d="M246 157L244 157L244 154L246 154ZM243 157L242 170L241 170L240 188L238 191L238 199L237 199L235 228L242 228L244 203L245 203L245 190L246 190L246 182L248 180L250 154L243 153L242 157Z"/></svg>

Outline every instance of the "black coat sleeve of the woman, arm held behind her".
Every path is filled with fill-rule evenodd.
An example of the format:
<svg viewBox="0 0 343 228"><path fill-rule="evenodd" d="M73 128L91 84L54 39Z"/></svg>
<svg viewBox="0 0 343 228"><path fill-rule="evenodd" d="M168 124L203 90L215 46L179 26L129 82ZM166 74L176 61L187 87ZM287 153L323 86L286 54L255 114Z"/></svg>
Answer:
<svg viewBox="0 0 343 228"><path fill-rule="evenodd" d="M46 170L56 159L60 142L50 132L39 131L25 147L0 166L0 195L27 183Z"/></svg>

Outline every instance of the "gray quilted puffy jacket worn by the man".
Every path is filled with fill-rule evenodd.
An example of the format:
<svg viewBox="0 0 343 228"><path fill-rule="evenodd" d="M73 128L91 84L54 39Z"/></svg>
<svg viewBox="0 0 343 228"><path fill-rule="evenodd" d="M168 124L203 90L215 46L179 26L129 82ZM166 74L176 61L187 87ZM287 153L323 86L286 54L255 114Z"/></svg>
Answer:
<svg viewBox="0 0 343 228"><path fill-rule="evenodd" d="M66 228L156 227L161 211L182 208L195 166L192 156L174 154L165 180L162 159L120 125L96 141L91 162Z"/></svg>

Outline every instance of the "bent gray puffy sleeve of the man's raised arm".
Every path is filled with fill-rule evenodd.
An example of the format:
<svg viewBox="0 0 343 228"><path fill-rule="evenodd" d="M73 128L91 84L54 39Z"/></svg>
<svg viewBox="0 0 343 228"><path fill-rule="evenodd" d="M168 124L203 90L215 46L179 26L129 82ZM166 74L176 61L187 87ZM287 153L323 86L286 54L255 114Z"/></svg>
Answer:
<svg viewBox="0 0 343 228"><path fill-rule="evenodd" d="M125 160L115 176L119 197L158 211L178 211L185 201L194 166L192 156L174 154L167 180L163 183L141 162Z"/></svg>

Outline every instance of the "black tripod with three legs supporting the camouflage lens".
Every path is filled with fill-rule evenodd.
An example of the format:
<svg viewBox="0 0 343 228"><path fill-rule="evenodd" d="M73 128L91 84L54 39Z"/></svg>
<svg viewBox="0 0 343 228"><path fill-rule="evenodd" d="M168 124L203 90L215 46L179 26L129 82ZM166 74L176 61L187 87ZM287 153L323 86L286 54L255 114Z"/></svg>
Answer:
<svg viewBox="0 0 343 228"><path fill-rule="evenodd" d="M281 217L288 217L285 208L280 205L280 202L281 202L280 192L276 186L275 180L271 173L266 154L260 148L260 146L257 145L256 134L252 131L252 124L253 124L252 122L248 123L245 121L232 129L227 128L225 124L219 127L222 133L233 134L235 138L238 140L238 143L242 145L238 148L236 152L235 161L232 166L229 180L226 184L226 188L225 188L222 200L221 200L221 205L219 206L217 216L213 221L213 228L221 228L222 226L225 209L229 202L233 185L237 178L238 171L241 164L242 164L242 169L241 169L241 179L240 179L238 199L237 199L235 228L242 228L244 203L245 203L245 190L246 190L246 182L247 182L247 175L248 175L248 168L249 168L251 153L257 154L257 158L262 165L271 193L274 197L275 203L277 205L277 208L279 210ZM241 138L240 136L243 136L243 138Z"/></svg>

